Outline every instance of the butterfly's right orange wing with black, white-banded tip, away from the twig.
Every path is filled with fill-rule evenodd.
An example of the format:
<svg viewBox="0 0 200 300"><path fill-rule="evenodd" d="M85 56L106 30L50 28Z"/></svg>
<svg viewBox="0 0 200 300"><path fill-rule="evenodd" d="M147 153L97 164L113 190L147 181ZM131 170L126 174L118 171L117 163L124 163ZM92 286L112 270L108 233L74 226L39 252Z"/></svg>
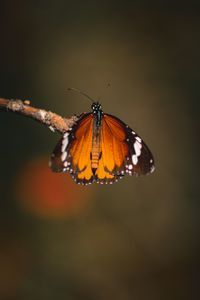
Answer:
<svg viewBox="0 0 200 300"><path fill-rule="evenodd" d="M103 116L101 144L104 169L115 178L153 172L154 159L147 145L115 116Z"/></svg>

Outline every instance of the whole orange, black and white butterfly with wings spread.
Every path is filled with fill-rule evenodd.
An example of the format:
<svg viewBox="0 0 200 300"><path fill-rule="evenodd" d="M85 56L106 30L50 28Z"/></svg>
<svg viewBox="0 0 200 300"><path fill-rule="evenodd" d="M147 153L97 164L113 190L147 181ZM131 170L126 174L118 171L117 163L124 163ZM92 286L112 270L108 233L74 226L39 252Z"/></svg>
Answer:
<svg viewBox="0 0 200 300"><path fill-rule="evenodd" d="M52 170L69 172L83 185L153 172L154 159L143 140L120 119L105 114L99 102L92 100L91 108L63 134L51 156Z"/></svg>

